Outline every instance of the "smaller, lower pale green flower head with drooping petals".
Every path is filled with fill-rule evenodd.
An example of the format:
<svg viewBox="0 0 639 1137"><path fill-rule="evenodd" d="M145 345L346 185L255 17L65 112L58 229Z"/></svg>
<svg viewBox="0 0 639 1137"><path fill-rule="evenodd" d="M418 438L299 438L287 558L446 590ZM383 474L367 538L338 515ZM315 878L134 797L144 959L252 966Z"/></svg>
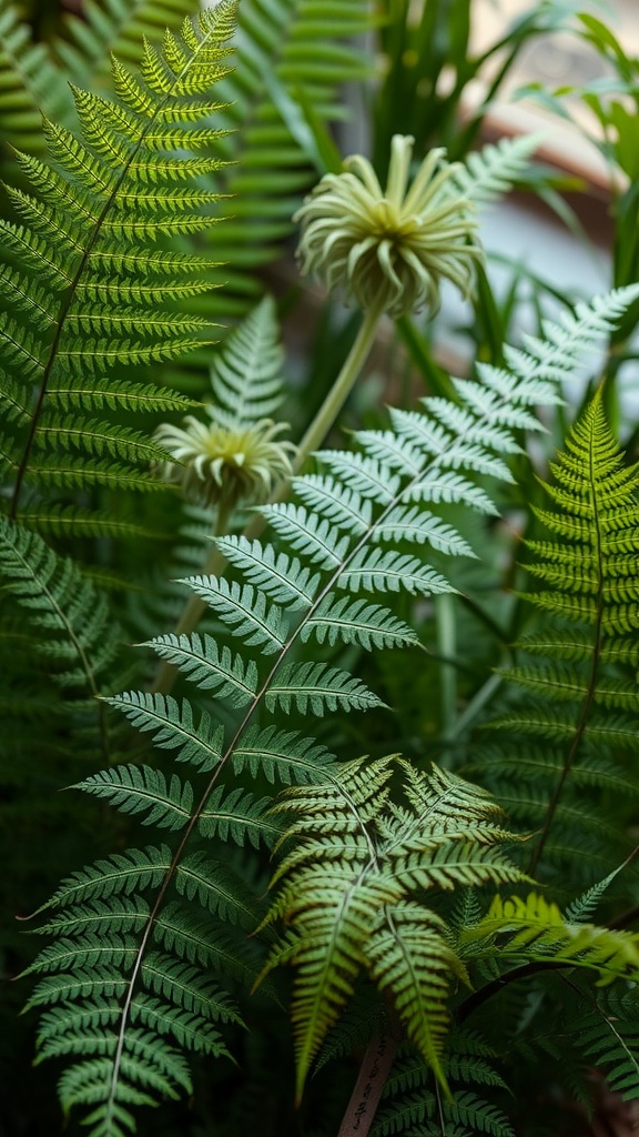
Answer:
<svg viewBox="0 0 639 1137"><path fill-rule="evenodd" d="M188 497L224 508L265 501L292 473L296 447L279 439L287 424L260 418L250 426L223 425L216 408L207 409L208 423L186 415L183 428L158 426L156 440L180 463L167 462L161 476Z"/></svg>

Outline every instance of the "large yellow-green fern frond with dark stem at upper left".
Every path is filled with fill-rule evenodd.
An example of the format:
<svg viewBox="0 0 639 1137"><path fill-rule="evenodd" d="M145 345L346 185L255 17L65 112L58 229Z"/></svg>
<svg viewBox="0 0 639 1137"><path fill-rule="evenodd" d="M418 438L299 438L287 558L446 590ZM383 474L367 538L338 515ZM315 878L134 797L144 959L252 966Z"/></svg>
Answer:
<svg viewBox="0 0 639 1137"><path fill-rule="evenodd" d="M184 400L122 375L208 339L206 322L169 301L210 287L208 262L158 239L206 229L217 200L193 184L216 169L189 157L218 132L199 125L210 86L229 70L235 3L222 0L163 48L146 48L135 75L113 64L116 100L75 90L76 136L47 123L55 165L19 155L36 197L8 190L20 222L1 223L13 264L0 288L3 480L10 514L40 523L42 496L69 488L148 490L165 455L123 424L123 410L179 409Z"/></svg>

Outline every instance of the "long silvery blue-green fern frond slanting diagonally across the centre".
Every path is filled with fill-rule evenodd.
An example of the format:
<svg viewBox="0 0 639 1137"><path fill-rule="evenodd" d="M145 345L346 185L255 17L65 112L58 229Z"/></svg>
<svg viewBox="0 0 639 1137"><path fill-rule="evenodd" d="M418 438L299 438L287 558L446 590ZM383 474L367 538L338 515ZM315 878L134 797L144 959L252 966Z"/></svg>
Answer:
<svg viewBox="0 0 639 1137"><path fill-rule="evenodd" d="M209 1031L211 1016L217 1029L217 1003L209 1013L202 995L186 1030L182 998L185 966L194 970L200 994L211 970L249 985L255 979L256 964L238 928L250 923L251 911L257 923L260 906L250 894L247 901L241 881L224 875L229 843L247 849L259 841L275 844L282 821L269 812L273 783L317 783L320 796L335 792L340 767L318 740L314 721L367 708L383 713L383 707L347 670L348 657L334 659L334 649L346 644L364 650L416 650L415 633L392 612L389 594L449 591L424 550L443 557L472 551L450 518L439 515L439 505L495 512L476 472L483 481L511 478L507 458L518 449L515 432L539 428L532 406L559 398L557 381L633 294L614 293L582 306L562 329L548 326L547 340L509 355L512 372L484 366L481 383L456 381L458 404L428 398L420 412L392 412L392 430L362 432L356 453L322 455L318 473L294 480L297 500L266 508L275 532L271 543L221 537L216 543L230 564L229 578L186 581L219 617L217 636L165 634L149 641L179 669L192 696L130 691L109 699L155 741L153 761L111 766L81 788L159 825L161 847L131 852L128 866L115 878L103 863L89 866L80 898L69 894L67 903L66 886L53 897L51 906L61 911L48 930L57 940L36 964L45 978L35 995L39 1005L56 998L68 1011L66 1026L57 1020L55 1049L59 1056L76 1056L77 1063L63 1077L61 1097L66 1107L91 1109L94 1134L119 1137L131 1130L136 1104L183 1089L184 1045L222 1053L223 1044L213 1043ZM184 764L186 777L164 773L167 750ZM412 941L413 889L430 885L434 877L428 872L435 869L440 887L449 872L465 872L473 882L476 864L463 866L456 860L462 845L455 846L454 869L438 854L425 864L413 858L410 818L423 810L430 791L408 771L406 787L408 804L376 821L389 857L393 849L392 888L384 877L383 887L371 886L370 891L376 911L387 903L405 905L398 920L405 916ZM374 812L374 803L368 804ZM362 831L367 808L363 798L352 814L357 856L368 840ZM468 839L471 829L466 819ZM478 823L478 839L480 829ZM420 839L415 836L418 849ZM492 854L479 849L476 856L480 874L487 871L491 879ZM351 874L351 866L345 865L343 873ZM76 883L68 888L73 891ZM99 972L88 976L88 961L98 958L98 928L105 930L100 944L106 953L99 956ZM422 952L418 930L415 937L415 952ZM252 946L257 949L255 940ZM390 956L377 946L380 955L371 966L384 986ZM392 945L388 951L392 954ZM392 980L396 991L398 984ZM331 1019L330 1010L318 1004L318 1022ZM421 1028L413 1029L418 1034ZM155 1032L161 1037L160 1059L151 1044ZM314 1046L305 1044L305 1062ZM429 1054L437 1059L437 1053L434 1041Z"/></svg>

